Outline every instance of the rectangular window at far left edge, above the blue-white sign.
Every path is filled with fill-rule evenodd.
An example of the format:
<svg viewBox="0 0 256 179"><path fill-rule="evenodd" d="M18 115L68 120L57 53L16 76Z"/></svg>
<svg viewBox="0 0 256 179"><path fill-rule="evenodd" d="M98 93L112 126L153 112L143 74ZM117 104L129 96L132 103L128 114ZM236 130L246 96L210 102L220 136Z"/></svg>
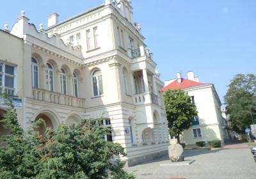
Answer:
<svg viewBox="0 0 256 179"><path fill-rule="evenodd" d="M14 95L14 66L2 63L0 65L0 93Z"/></svg>

